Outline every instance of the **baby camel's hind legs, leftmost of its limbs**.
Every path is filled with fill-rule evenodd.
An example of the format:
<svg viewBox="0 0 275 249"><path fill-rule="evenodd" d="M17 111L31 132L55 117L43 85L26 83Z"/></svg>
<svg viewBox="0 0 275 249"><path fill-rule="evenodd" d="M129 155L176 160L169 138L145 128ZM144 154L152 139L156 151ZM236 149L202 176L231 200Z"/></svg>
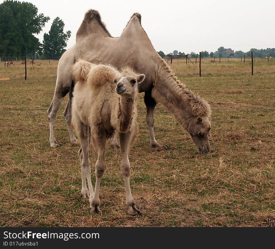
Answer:
<svg viewBox="0 0 275 249"><path fill-rule="evenodd" d="M88 149L90 145L91 129L88 125L81 123L78 124L78 135L81 143L81 147L78 151L80 166L81 166L81 180L82 180L82 189L81 195L83 198L93 197L93 186L91 181L91 163L88 157ZM89 190L86 185L86 178L88 182Z"/></svg>

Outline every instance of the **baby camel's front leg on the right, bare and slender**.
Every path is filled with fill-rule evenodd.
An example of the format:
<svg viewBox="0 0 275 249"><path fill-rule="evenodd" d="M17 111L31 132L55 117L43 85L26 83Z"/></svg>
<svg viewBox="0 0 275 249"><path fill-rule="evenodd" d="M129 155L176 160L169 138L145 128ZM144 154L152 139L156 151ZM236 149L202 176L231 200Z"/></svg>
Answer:
<svg viewBox="0 0 275 249"><path fill-rule="evenodd" d="M131 215L141 215L141 211L137 209L136 202L133 199L130 189L130 162L128 158L128 148L131 141L131 132L120 133L120 146L121 146L121 163L120 169L123 174L125 191L126 191L126 205L128 213Z"/></svg>

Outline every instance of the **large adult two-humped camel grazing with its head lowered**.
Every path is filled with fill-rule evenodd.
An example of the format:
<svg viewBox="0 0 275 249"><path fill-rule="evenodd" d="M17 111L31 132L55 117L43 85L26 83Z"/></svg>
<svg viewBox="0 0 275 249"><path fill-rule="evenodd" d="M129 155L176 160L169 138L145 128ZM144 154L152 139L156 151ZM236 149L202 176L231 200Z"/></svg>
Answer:
<svg viewBox="0 0 275 249"><path fill-rule="evenodd" d="M146 75L145 80L138 85L138 91L145 93L146 122L152 147L167 148L166 145L160 145L156 141L153 129L155 106L160 103L173 114L181 127L190 133L198 152L208 153L210 151L208 136L211 110L209 104L188 90L158 55L141 26L141 15L134 13L121 36L114 38L102 23L96 10L89 10L85 14L76 34L76 44L68 49L58 62L56 88L47 110L51 147L62 145L55 140L53 128L58 108L67 93L69 93L69 98L63 115L67 122L71 142L77 142L71 127L74 80L70 70L74 62L80 59L97 64L107 63L119 70L125 65L130 65L134 70ZM118 146L116 140L111 144Z"/></svg>

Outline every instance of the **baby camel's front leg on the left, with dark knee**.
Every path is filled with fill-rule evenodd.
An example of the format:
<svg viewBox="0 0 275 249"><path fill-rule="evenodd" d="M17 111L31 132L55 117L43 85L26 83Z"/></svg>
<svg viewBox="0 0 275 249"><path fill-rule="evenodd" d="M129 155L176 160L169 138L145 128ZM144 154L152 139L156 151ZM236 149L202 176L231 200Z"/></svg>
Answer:
<svg viewBox="0 0 275 249"><path fill-rule="evenodd" d="M94 214L101 214L101 210L99 209L100 200L99 200L99 187L100 181L103 177L103 174L106 170L106 163L105 163L105 143L107 136L104 132L94 132L97 134L97 137L93 137L93 141L96 143L98 148L98 159L95 165L95 173L96 173L96 185L95 185L95 192L94 196L90 196L90 206L91 212Z"/></svg>

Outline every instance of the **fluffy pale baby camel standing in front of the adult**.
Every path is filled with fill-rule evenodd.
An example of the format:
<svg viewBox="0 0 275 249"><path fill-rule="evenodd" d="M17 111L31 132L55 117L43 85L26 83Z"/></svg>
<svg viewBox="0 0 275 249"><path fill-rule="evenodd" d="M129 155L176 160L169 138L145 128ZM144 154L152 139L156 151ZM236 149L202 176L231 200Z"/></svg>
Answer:
<svg viewBox="0 0 275 249"><path fill-rule="evenodd" d="M91 211L97 214L101 214L99 186L106 169L105 144L107 138L116 132L120 135L120 168L125 183L128 213L141 214L131 194L128 149L137 136L135 97L138 83L144 80L145 75L137 75L130 68L121 72L113 66L95 65L85 60L76 62L72 70L73 78L77 82L73 92L72 122L81 143L78 152L82 175L81 194L83 198L90 197ZM91 163L88 158L91 142L94 148L98 149L95 191L92 187Z"/></svg>

